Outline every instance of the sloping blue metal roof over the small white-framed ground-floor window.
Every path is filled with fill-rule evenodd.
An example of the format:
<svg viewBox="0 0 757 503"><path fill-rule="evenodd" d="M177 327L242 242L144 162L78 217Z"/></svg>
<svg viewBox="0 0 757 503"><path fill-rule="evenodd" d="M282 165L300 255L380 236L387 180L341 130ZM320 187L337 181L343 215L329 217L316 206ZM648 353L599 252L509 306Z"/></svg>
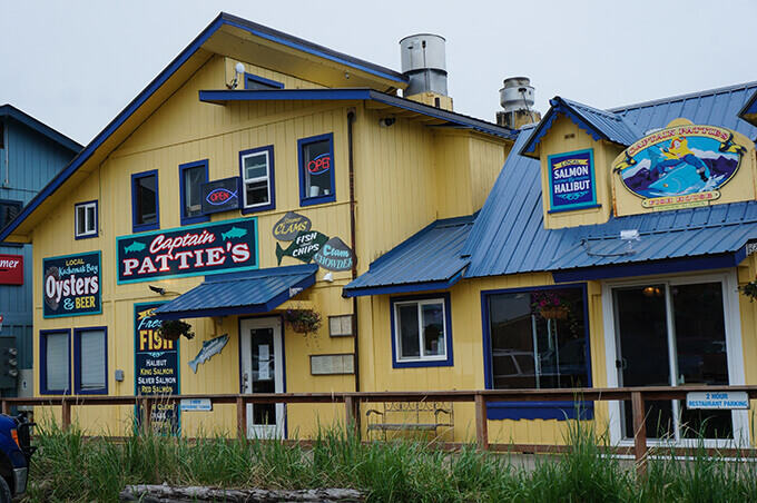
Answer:
<svg viewBox="0 0 757 503"><path fill-rule="evenodd" d="M460 250L474 220L472 215L434 221L371 264L367 273L344 287L344 295L449 288L462 277L468 265Z"/></svg>

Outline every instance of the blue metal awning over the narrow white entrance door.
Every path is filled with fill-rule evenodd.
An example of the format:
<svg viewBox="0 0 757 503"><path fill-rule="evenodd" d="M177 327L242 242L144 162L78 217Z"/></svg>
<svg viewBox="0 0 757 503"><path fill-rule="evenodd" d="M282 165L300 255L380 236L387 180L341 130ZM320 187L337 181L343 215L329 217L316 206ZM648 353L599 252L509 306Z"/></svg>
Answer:
<svg viewBox="0 0 757 503"><path fill-rule="evenodd" d="M160 319L268 313L315 284L318 266L274 267L209 277L158 307Z"/></svg>

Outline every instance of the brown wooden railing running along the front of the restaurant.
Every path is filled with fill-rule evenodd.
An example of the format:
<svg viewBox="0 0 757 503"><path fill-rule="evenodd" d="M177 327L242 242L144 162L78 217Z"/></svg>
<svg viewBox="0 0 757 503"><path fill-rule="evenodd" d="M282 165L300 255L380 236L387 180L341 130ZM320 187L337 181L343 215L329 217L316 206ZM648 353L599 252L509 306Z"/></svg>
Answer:
<svg viewBox="0 0 757 503"><path fill-rule="evenodd" d="M646 470L647 428L645 403L648 401L686 400L689 392L746 392L750 400L757 398L757 386L659 386L635 388L577 388L577 389L481 389L481 391L449 391L449 392L364 392L364 393L282 393L255 395L161 395L161 396L92 396L66 395L35 398L0 398L0 410L8 413L11 406L43 405L60 406L61 423L68 428L71 423L71 407L91 405L135 405L144 407L145 421L149 425L150 412L156 403L178 403L187 398L210 400L213 404L235 404L237 415L237 433L240 437L246 434L247 404L327 404L343 403L345 421L350 427L360 428L360 404L378 402L462 402L473 403L475 410L475 438L480 450L513 451L513 452L558 452L562 445L540 444L490 444L486 420L486 404L490 402L607 402L630 401L633 417L633 446L630 448L615 448L615 452L630 453L638 463L640 471ZM454 446L454 444L448 444ZM680 450L684 452L685 450ZM721 454L738 456L755 456L754 448L719 450Z"/></svg>

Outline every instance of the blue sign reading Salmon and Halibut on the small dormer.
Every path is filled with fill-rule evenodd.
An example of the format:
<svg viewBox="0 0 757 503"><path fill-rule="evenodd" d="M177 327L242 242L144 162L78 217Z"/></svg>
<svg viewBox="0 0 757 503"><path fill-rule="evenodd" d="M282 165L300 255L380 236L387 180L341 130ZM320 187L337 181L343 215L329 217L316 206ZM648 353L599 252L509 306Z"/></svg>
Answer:
<svg viewBox="0 0 757 503"><path fill-rule="evenodd" d="M549 156L548 165L551 211L597 206L592 149Z"/></svg>

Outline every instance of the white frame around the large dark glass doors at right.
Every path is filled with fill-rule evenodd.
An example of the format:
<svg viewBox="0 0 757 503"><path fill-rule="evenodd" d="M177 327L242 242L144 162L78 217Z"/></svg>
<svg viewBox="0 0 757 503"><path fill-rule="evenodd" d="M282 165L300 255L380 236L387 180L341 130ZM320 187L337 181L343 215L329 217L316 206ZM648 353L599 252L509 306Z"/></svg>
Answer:
<svg viewBox="0 0 757 503"><path fill-rule="evenodd" d="M617 335L615 325L615 308L612 303L612 290L615 288L628 286L643 286L650 283L665 283L669 288L676 285L691 285L697 283L720 283L722 287L722 315L726 329L726 355L728 358L728 382L730 385L745 384L744 372L744 347L741 341L741 320L739 312L738 280L735 270L727 270L714 274L699 275L670 275L670 276L647 276L645 279L632 280L604 280L602 282L602 320L604 324L604 365L607 368L607 386L618 387L618 359ZM668 312L668 317L670 313ZM675 356L670 356L674 358ZM632 446L632 438L623 438L622 410L619 401L609 403L609 426L610 441L613 445ZM734 438L733 440L704 440L705 447L745 447L749 445L749 411L733 411ZM697 447L701 441L698 438L662 440L648 438L650 446L667 446L677 444L686 447Z"/></svg>

